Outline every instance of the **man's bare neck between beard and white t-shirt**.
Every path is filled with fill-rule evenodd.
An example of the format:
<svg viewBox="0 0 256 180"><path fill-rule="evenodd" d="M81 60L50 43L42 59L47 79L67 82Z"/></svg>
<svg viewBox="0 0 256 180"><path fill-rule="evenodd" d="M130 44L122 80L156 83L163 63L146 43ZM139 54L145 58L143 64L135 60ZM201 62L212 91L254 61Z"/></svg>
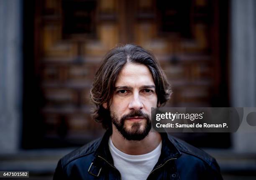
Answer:
<svg viewBox="0 0 256 180"><path fill-rule="evenodd" d="M153 151L161 142L161 135L158 132L149 132L141 141L129 141L125 139L120 132L113 128L111 139L118 150L128 155L143 155Z"/></svg>

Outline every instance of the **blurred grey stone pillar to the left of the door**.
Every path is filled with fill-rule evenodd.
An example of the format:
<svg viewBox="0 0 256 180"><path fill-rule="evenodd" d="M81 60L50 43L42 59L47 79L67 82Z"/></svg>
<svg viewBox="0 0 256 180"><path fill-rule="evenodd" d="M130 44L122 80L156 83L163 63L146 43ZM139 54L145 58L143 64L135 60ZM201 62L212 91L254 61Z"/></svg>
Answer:
<svg viewBox="0 0 256 180"><path fill-rule="evenodd" d="M16 152L20 147L21 25L21 0L0 0L0 153Z"/></svg>

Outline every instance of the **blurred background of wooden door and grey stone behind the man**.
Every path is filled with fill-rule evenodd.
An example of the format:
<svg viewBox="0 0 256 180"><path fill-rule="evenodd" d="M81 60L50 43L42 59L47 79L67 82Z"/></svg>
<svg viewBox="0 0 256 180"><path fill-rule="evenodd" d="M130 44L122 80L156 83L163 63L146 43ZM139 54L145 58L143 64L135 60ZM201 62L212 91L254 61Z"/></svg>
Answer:
<svg viewBox="0 0 256 180"><path fill-rule="evenodd" d="M254 0L0 0L0 171L50 180L100 137L90 88L104 54L135 43L160 61L172 107L256 107ZM256 178L256 133L173 134Z"/></svg>

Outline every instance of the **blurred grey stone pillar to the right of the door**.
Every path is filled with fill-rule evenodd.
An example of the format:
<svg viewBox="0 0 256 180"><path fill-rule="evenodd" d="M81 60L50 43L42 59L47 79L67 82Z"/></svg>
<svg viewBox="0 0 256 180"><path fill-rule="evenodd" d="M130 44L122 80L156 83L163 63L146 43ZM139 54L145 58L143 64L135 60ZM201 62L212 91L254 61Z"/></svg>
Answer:
<svg viewBox="0 0 256 180"><path fill-rule="evenodd" d="M256 106L256 1L231 1L231 106ZM244 114L247 115L247 114ZM233 148L256 152L256 133L234 133Z"/></svg>

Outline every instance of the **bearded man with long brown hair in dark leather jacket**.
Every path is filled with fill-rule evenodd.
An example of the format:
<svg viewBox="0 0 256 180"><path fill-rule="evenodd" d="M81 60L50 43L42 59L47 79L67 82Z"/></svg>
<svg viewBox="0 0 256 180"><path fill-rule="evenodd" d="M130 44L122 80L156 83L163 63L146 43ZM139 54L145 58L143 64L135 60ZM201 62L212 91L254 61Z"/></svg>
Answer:
<svg viewBox="0 0 256 180"><path fill-rule="evenodd" d="M150 132L151 107L170 98L158 61L140 46L110 50L91 89L105 135L63 157L54 180L220 180L213 157L166 133Z"/></svg>

